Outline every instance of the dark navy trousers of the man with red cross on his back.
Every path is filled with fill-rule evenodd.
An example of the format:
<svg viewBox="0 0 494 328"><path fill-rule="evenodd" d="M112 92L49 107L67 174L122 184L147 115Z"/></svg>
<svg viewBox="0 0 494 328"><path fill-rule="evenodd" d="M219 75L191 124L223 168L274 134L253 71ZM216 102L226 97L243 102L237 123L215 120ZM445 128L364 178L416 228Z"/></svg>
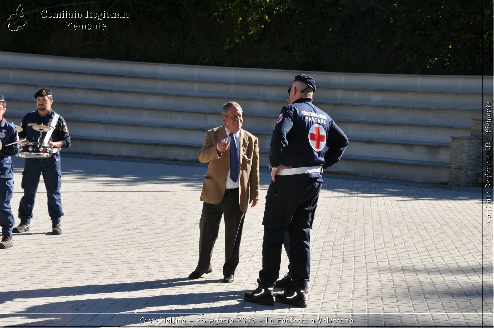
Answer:
<svg viewBox="0 0 494 328"><path fill-rule="evenodd" d="M280 179L281 180L281 179ZM264 210L262 270L259 284L273 286L280 274L285 233L290 243L290 284L307 286L310 277L310 229L322 182L317 178L276 181L268 188Z"/></svg>

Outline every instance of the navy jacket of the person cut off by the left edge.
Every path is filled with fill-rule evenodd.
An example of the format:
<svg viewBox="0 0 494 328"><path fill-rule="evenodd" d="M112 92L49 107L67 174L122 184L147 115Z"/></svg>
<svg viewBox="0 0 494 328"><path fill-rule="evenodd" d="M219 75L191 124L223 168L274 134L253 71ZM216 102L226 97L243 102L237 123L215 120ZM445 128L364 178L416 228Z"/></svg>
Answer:
<svg viewBox="0 0 494 328"><path fill-rule="evenodd" d="M19 152L19 148L17 145L5 145L17 140L19 140L19 136L17 135L15 126L5 121L5 119L2 119L0 121L0 141L2 146L0 149L0 178L14 178L14 170L10 156L17 154Z"/></svg>

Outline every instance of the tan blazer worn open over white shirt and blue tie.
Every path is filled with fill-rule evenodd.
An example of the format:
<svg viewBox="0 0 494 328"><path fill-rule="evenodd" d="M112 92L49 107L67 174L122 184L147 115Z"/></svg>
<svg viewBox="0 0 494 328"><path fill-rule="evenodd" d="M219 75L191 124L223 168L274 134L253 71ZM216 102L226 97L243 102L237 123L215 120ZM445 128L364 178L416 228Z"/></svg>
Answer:
<svg viewBox="0 0 494 328"><path fill-rule="evenodd" d="M199 161L209 163L204 177L201 201L219 204L225 195L226 178L230 166L229 149L218 155L216 144L226 138L225 125L206 131ZM259 199L259 142L246 130L240 130L239 205L247 212L249 199Z"/></svg>

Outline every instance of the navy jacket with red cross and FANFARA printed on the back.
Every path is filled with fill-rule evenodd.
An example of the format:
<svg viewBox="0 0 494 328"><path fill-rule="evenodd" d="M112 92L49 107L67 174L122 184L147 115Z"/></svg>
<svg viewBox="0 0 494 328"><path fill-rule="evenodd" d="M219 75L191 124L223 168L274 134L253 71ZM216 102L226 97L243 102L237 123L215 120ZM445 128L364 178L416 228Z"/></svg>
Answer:
<svg viewBox="0 0 494 328"><path fill-rule="evenodd" d="M283 107L271 137L271 166L323 166L338 163L348 146L348 138L334 121L304 97ZM321 173L277 175L276 181L318 178Z"/></svg>

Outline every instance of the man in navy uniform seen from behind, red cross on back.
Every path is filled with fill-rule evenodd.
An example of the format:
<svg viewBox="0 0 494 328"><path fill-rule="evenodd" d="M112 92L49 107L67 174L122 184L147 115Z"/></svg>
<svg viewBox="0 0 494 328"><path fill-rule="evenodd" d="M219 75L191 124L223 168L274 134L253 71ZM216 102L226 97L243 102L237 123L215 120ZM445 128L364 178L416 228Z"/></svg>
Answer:
<svg viewBox="0 0 494 328"><path fill-rule="evenodd" d="M288 89L271 137L269 161L272 182L264 210L262 270L258 287L247 292L248 302L273 305L273 285L279 277L285 232L290 243L290 278L276 301L306 307L305 286L310 272L310 229L314 221L323 169L336 164L348 146L348 138L334 121L314 106L316 82L300 74Z"/></svg>

